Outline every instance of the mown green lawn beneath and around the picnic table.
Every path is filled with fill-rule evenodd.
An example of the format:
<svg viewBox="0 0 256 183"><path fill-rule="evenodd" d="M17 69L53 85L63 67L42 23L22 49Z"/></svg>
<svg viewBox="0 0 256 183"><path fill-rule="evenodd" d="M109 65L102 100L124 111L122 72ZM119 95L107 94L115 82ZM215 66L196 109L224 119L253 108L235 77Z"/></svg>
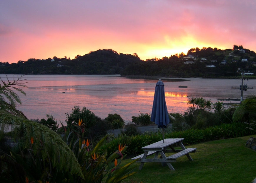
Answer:
<svg viewBox="0 0 256 183"><path fill-rule="evenodd" d="M160 163L144 163L142 170L139 170L139 163L135 163L137 173L123 183L251 183L256 178L256 152L245 146L249 138L245 136L186 146L197 148L196 153L190 153L194 161L189 161L187 156L178 158L172 163L175 171ZM127 158L123 163L130 161Z"/></svg>

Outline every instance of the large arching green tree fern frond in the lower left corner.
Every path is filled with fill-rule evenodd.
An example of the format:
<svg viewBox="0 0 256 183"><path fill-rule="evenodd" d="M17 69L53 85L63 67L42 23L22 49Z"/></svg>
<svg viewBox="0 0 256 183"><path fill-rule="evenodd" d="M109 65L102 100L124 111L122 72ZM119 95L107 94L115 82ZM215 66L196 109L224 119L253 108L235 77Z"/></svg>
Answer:
<svg viewBox="0 0 256 183"><path fill-rule="evenodd" d="M74 172L80 177L83 177L81 167L72 150L58 134L48 127L34 121L14 116L2 110L0 110L0 124L12 124L12 137L14 139L24 139L24 149L31 149L30 138L33 134L33 154L41 154L42 160L47 160L49 158L53 168L59 167L60 171ZM68 156L69 161L67 161ZM70 161L72 161L72 166L69 166Z"/></svg>

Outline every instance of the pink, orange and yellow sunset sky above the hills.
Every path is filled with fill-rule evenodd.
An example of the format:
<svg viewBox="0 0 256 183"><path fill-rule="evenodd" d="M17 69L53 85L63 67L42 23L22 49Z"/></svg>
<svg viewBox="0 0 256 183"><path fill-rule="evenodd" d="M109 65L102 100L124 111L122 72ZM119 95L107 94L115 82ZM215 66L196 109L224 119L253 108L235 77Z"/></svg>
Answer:
<svg viewBox="0 0 256 183"><path fill-rule="evenodd" d="M255 0L1 0L0 61L98 49L142 60L190 48L256 52Z"/></svg>

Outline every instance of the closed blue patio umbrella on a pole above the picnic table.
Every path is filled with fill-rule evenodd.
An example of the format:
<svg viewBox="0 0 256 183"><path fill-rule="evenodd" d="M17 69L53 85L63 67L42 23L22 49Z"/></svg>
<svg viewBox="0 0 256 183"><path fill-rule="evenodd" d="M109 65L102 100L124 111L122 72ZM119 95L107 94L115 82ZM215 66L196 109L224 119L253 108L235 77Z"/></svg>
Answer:
<svg viewBox="0 0 256 183"><path fill-rule="evenodd" d="M162 128L163 143L164 143L164 128L170 122L169 115L167 112L167 106L164 95L164 83L159 79L156 84L154 101L151 113L151 121L158 125L158 128Z"/></svg>

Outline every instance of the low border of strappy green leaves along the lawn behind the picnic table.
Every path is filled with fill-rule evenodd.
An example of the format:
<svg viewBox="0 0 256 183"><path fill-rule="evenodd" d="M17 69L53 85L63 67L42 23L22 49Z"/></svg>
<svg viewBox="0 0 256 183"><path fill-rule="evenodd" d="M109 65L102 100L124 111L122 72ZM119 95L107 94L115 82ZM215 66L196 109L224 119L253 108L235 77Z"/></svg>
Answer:
<svg viewBox="0 0 256 183"><path fill-rule="evenodd" d="M254 131L246 128L245 123L221 124L218 126L211 126L205 129L187 129L184 131L170 131L164 132L165 138L184 138L184 144L190 145L200 142L212 141L217 139L236 138L255 134ZM256 126L252 126L256 130ZM141 135L127 136L121 135L112 139L109 143L103 146L104 150L112 152L113 148L118 143L125 143L127 154L134 155L143 153L141 149L144 146L162 140L162 132L152 133L147 132Z"/></svg>

